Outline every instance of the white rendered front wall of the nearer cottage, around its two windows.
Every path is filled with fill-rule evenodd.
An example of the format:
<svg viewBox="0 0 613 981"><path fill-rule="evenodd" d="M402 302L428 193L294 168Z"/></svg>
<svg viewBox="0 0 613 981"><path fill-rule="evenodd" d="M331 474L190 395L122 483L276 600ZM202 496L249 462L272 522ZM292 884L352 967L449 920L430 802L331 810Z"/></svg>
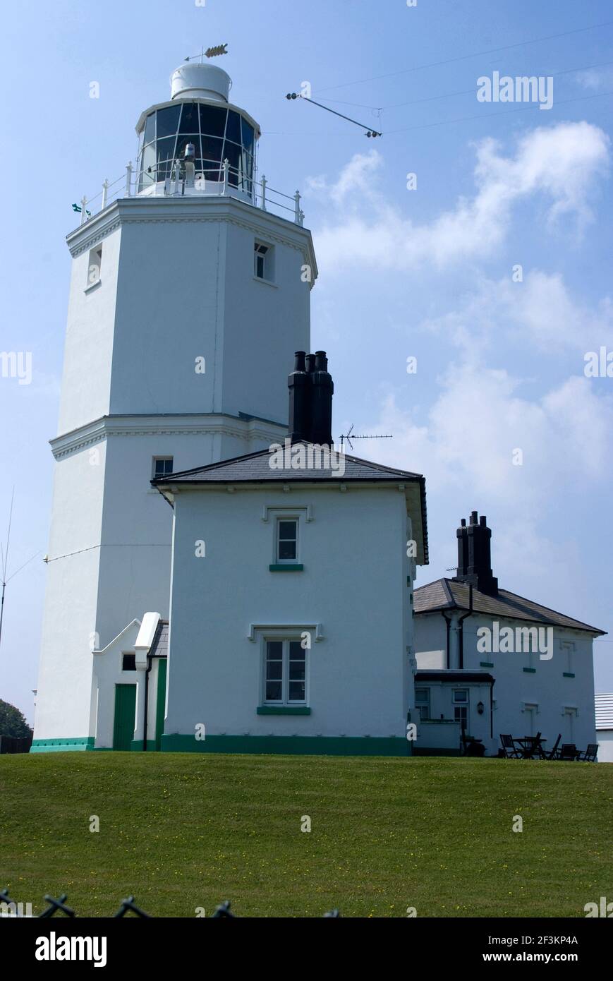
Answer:
<svg viewBox="0 0 613 981"><path fill-rule="evenodd" d="M312 505L301 521L303 572L269 571L265 505ZM406 501L396 487L181 490L176 500L168 717L193 735L405 737ZM194 545L206 542L206 557ZM322 624L308 652L308 716L262 716L263 640L249 624Z"/></svg>

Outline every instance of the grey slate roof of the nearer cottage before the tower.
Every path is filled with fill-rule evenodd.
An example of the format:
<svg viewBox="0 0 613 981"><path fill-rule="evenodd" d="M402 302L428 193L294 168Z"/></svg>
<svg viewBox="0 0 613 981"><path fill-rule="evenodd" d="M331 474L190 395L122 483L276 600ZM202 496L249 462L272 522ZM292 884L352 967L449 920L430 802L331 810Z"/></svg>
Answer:
<svg viewBox="0 0 613 981"><path fill-rule="evenodd" d="M308 443L303 443L308 446ZM216 485L216 484L270 484L270 483L324 483L334 481L337 484L355 482L393 484L408 484L414 488L411 496L411 517L414 535L419 541L423 538L423 549L420 546L418 562L428 563L428 515L426 510L426 479L422 474L414 474L407 470L394 470L381 463L362 460L358 456L344 454L344 473L339 476L332 468L316 469L311 467L304 470L292 470L284 467L273 470L270 466L271 453L268 449L258 450L235 456L230 460L220 460L205 467L195 467L193 470L183 470L166 477L158 477L151 481L153 487L160 491L181 484ZM334 460L336 462L336 460ZM419 525L421 524L421 528Z"/></svg>

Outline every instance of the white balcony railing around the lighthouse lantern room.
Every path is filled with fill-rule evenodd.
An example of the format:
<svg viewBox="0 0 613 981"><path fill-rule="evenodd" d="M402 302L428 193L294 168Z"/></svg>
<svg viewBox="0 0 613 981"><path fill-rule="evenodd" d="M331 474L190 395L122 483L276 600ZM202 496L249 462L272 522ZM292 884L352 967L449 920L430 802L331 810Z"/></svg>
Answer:
<svg viewBox="0 0 613 981"><path fill-rule="evenodd" d="M102 189L93 197L83 196L80 206L73 205L75 211L80 212L80 224L84 225L95 215L100 214L105 208L113 204L114 201L126 197L235 197L262 211L271 211L279 214L281 218L291 219L296 225L304 224L304 212L300 208L300 193L283 194L282 191L270 187L265 177L261 181L246 178L235 168L230 167L228 160L221 165L218 161L203 161L210 164L210 169L204 172L195 172L193 177L185 173L182 163L177 160L172 168L165 164L160 165L162 174L170 170L170 177L161 177L156 180L157 174L152 174L151 170L146 172L135 171L131 163L128 163L126 173L116 181L103 181ZM211 180L206 177L213 174L218 180ZM281 213L281 214L280 214Z"/></svg>

